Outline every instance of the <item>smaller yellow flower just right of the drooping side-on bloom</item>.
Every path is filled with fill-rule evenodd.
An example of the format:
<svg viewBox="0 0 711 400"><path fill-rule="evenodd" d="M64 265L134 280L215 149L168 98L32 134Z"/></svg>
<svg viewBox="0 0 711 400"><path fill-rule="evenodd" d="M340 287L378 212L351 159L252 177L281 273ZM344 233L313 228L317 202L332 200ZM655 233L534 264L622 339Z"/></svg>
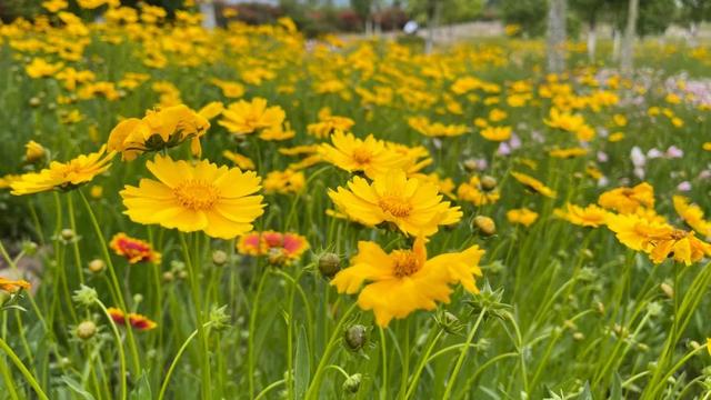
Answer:
<svg viewBox="0 0 711 400"><path fill-rule="evenodd" d="M287 114L281 107L267 107L266 99L253 98L251 102L240 100L231 103L222 111L222 119L218 123L231 133L247 134L281 126L284 118Z"/></svg>

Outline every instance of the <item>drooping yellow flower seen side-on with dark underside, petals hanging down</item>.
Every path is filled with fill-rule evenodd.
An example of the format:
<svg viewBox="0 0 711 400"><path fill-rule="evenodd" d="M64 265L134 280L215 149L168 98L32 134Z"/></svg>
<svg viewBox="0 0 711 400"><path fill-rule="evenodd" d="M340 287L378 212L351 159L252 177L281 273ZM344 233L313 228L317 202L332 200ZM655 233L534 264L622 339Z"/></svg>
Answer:
<svg viewBox="0 0 711 400"><path fill-rule="evenodd" d="M109 134L108 146L131 161L146 151L160 151L190 140L193 154L200 156L200 138L209 128L210 122L187 106L167 107L149 110L142 119L119 122Z"/></svg>

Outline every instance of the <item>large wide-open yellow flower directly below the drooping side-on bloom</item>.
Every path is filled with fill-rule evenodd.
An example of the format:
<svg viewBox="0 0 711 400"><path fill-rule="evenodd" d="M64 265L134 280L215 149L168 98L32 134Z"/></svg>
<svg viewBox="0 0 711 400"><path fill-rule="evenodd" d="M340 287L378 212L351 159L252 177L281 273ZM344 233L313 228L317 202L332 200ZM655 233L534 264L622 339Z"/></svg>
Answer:
<svg viewBox="0 0 711 400"><path fill-rule="evenodd" d="M263 213L260 178L239 168L217 167L208 160L194 166L157 156L146 163L158 181L141 179L121 191L123 212L138 223L158 223L183 232L204 231L232 239L252 229Z"/></svg>

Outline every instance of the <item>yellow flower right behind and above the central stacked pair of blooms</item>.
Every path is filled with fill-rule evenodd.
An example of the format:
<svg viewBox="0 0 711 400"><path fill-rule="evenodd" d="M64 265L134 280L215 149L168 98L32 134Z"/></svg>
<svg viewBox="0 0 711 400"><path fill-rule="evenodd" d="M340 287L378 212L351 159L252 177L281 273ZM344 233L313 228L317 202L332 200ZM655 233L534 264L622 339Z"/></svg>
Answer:
<svg viewBox="0 0 711 400"><path fill-rule="evenodd" d="M319 147L323 161L349 172L363 171L371 179L391 169L402 168L408 161L372 134L363 140L352 133L338 131L331 136L331 143L333 146L323 143Z"/></svg>

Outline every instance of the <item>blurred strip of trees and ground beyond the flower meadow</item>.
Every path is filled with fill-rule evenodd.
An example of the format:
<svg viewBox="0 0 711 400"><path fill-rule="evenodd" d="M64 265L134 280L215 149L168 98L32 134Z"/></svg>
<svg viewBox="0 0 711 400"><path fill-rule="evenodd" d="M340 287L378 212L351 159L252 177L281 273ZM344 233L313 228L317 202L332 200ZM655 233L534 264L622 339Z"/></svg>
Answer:
<svg viewBox="0 0 711 400"><path fill-rule="evenodd" d="M549 3L557 0L144 0L173 13L198 9L204 24L226 26L230 21L250 24L273 23L288 16L309 37L326 33L387 34L407 31L438 39L514 36L535 38L545 33ZM32 19L47 13L43 0L0 0L0 20ZM87 13L70 0L70 10ZM136 7L139 0L121 0ZM614 37L624 28L629 0L568 0L567 30L570 38L591 32ZM683 36L690 40L709 37L711 0L641 0L639 36ZM432 28L433 32L425 32ZM445 28L445 29L443 29Z"/></svg>

